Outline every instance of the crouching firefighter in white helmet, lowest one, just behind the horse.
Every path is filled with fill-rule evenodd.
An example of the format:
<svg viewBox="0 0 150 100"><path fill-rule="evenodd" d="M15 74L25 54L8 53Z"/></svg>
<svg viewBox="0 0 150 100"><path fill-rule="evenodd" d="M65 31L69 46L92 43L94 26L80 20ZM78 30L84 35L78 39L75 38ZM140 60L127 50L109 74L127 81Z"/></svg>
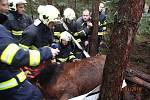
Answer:
<svg viewBox="0 0 150 100"><path fill-rule="evenodd" d="M60 34L60 40L58 44L53 43L52 48L58 48L60 50L59 54L56 56L56 62L72 62L76 61L76 57L72 52L72 37L69 32L64 31Z"/></svg>

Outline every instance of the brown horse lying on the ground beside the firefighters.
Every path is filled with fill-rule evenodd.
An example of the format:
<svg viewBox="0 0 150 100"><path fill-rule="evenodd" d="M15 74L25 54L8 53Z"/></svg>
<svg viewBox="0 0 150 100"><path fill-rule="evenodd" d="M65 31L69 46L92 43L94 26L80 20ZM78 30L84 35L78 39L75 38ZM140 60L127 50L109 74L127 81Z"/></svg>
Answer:
<svg viewBox="0 0 150 100"><path fill-rule="evenodd" d="M44 64L38 83L46 100L68 100L85 94L101 84L106 56L81 61Z"/></svg>

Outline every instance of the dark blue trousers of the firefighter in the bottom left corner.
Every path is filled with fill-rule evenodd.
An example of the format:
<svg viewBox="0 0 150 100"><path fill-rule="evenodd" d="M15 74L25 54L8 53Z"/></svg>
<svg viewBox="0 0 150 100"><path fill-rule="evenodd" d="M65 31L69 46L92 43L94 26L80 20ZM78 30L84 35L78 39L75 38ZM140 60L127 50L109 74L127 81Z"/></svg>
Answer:
<svg viewBox="0 0 150 100"><path fill-rule="evenodd" d="M43 96L40 90L25 80L20 85L0 91L0 100L42 100Z"/></svg>

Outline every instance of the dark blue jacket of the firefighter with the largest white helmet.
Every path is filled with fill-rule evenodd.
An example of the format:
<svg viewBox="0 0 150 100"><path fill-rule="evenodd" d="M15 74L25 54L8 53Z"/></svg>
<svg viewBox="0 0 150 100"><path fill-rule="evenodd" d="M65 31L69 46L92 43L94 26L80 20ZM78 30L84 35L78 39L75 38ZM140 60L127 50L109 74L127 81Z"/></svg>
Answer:
<svg viewBox="0 0 150 100"><path fill-rule="evenodd" d="M49 29L42 22L39 25L35 25L33 23L29 27L27 27L22 35L22 39L20 41L21 44L36 48L43 46L50 46L53 42L53 30Z"/></svg>

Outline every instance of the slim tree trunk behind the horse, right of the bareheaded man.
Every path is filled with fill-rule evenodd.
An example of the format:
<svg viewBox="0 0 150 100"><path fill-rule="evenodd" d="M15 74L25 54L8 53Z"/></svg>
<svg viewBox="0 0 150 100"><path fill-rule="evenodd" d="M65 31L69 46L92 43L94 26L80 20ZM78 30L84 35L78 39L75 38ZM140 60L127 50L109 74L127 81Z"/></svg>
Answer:
<svg viewBox="0 0 150 100"><path fill-rule="evenodd" d="M90 55L95 56L97 51L97 34L98 34L98 20L99 20L99 0L92 1L92 23L93 29L90 38Z"/></svg>

